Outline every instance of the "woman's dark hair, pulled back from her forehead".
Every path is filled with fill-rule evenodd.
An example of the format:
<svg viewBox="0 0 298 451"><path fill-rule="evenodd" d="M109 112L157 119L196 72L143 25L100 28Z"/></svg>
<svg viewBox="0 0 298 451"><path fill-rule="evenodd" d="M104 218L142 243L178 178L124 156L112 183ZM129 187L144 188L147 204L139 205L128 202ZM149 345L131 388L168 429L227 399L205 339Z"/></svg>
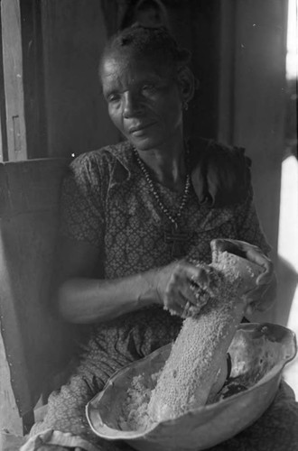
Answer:
<svg viewBox="0 0 298 451"><path fill-rule="evenodd" d="M186 66L191 60L191 52L180 47L166 28L145 27L139 23L117 32L107 41L99 71L107 56L121 51L132 51L135 56L161 61L173 70Z"/></svg>

